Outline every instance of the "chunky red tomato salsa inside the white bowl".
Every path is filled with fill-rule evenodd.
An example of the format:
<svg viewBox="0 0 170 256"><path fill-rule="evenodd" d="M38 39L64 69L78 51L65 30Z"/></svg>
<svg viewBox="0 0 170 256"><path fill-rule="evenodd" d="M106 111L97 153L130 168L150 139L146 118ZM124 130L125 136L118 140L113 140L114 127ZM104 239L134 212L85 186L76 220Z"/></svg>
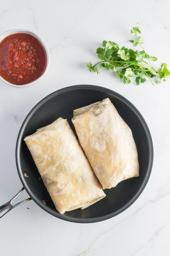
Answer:
<svg viewBox="0 0 170 256"><path fill-rule="evenodd" d="M44 73L46 65L46 51L34 36L18 33L1 41L0 75L9 83L33 82Z"/></svg>

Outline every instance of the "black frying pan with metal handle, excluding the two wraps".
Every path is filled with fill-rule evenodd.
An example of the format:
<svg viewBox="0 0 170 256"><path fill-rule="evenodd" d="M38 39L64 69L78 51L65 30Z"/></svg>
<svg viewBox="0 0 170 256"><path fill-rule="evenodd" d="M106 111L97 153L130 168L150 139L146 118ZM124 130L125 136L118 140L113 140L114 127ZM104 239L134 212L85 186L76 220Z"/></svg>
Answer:
<svg viewBox="0 0 170 256"><path fill-rule="evenodd" d="M76 209L60 214L56 210L42 179L39 179L40 174L23 138L34 133L38 128L52 123L59 117L67 119L75 133L74 125L71 122L73 110L105 98L110 98L120 116L132 130L138 151L139 177L124 180L114 188L105 189L106 197L84 210ZM42 99L24 120L16 143L16 165L23 184L23 188L19 193L25 188L30 196L30 198L22 202L33 199L36 204L51 215L72 222L89 223L102 221L126 210L139 197L146 186L152 163L152 139L148 126L139 111L120 94L93 85L66 87ZM107 194L107 192L110 194ZM0 207L1 215L22 203L13 205L12 200Z"/></svg>

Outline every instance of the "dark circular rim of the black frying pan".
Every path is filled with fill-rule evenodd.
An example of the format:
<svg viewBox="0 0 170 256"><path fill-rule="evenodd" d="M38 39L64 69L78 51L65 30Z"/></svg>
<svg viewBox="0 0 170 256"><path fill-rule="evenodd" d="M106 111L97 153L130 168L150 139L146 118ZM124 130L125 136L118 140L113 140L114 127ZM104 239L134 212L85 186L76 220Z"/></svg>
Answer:
<svg viewBox="0 0 170 256"><path fill-rule="evenodd" d="M45 205L42 205L42 201L39 200L36 196L34 196L34 194L32 193L32 191L28 188L27 183L26 183L26 179L23 178L23 176L21 175L21 173L23 172L21 164L20 164L20 146L21 146L21 142L22 142L22 133L25 130L25 127L27 125L27 123L29 122L29 119L31 118L31 116L33 115L33 113L35 112L36 109L40 108L46 101L52 99L53 97L55 97L58 94L62 94L64 92L70 92L73 90L82 90L82 89L88 89L88 90L96 90L96 91L101 91L101 92L106 92L106 93L111 93L112 95L114 95L114 97L119 98L119 100L123 101L125 104L127 104L131 110L138 116L139 120L141 121L141 124L144 128L145 134L147 136L147 141L148 141L148 145L149 145L149 165L148 165L148 170L147 173L145 175L145 178L140 186L140 188L138 189L138 192L131 198L131 200L124 205L123 207L119 208L118 210L104 215L102 217L95 217L95 218L74 218L74 217L69 217L69 216L65 216L60 214L59 212L55 212L53 210L49 210L46 208ZM59 89L57 91L54 91L52 93L50 93L49 95L47 95L46 97L44 97L42 100L40 100L32 109L31 111L28 113L28 115L26 116L25 120L23 121L19 133L18 133L18 137L17 137L17 142L16 142L16 166L17 166L17 171L18 171L18 175L19 178L21 180L21 183L23 185L23 187L25 188L25 190L27 191L27 193L29 194L29 196L33 199L33 201L38 204L43 210L45 210L46 212L48 212L49 214L53 215L54 217L57 217L59 219L62 220L66 220L66 221L70 221L70 222L76 222L76 223L93 223L93 222L99 222L99 221L103 221L106 219L110 219L120 213L122 213L123 211L125 211L127 208L129 208L136 200L137 198L141 195L142 191L144 190L146 184L148 183L150 174L151 174L151 170L152 170L152 165L153 165L153 143L152 143L152 138L151 138L151 134L148 128L147 123L145 122L143 116L141 115L141 113L138 111L138 109L129 101L127 100L124 96L122 96L121 94L110 90L108 88L105 87L100 87L100 86L95 86L95 85L87 85L87 84L81 84L81 85L74 85L74 86L68 86L62 89Z"/></svg>

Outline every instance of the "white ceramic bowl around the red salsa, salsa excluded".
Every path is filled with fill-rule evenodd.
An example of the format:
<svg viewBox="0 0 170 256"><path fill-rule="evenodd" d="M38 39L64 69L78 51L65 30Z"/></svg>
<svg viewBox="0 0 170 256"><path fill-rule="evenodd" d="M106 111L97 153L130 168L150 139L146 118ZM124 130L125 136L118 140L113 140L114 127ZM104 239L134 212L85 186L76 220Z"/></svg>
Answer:
<svg viewBox="0 0 170 256"><path fill-rule="evenodd" d="M12 84L12 83L9 83L8 81L6 81L5 79L3 79L1 76L0 76L0 79L7 83L8 85L10 86L13 86L13 87L17 87L17 88L25 88L25 87L29 87L29 86L32 86L33 84L39 82L45 75L45 73L47 72L48 70L48 67L49 67L49 63L50 63L50 53L44 43L44 41L37 35L35 34L33 31L31 30L27 30L27 29L11 29L11 30L8 30L6 32L4 32L1 36L0 36L0 42L7 36L9 35L12 35L12 34L16 34L16 33L25 33L25 34L30 34L32 36L34 36L35 38L37 38L41 44L43 45L45 51L46 51L46 55L47 55L47 65L46 65L46 69L44 71L44 73L41 75L41 77L39 77L38 79L36 79L35 81L31 82L31 83L28 83L28 84L24 84L24 85L15 85L15 84Z"/></svg>

